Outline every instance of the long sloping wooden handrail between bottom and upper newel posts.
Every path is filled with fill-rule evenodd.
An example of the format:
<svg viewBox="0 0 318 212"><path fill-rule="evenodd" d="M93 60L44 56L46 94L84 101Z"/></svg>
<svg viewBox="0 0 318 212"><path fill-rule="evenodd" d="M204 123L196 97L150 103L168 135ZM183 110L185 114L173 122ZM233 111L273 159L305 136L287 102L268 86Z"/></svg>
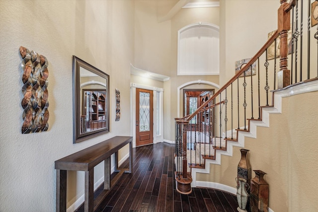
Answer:
<svg viewBox="0 0 318 212"><path fill-rule="evenodd" d="M278 38L278 36L279 36L279 33L276 30L273 33L273 35L262 46L262 48L254 55L254 57L250 59L250 61L240 71L238 71L226 84L224 84L217 92L215 92L215 94L213 94L205 103L203 103L200 107L198 107L196 111L194 111L189 116L183 117L182 119L189 121L195 115L197 115L204 107L206 107L209 104L209 102L215 99L222 91L224 91L228 86L230 86L239 77L239 75L241 75L244 71L247 71L250 68L250 66L256 62L257 58L259 58L266 51L266 49L269 48L269 46L274 42L274 40Z"/></svg>

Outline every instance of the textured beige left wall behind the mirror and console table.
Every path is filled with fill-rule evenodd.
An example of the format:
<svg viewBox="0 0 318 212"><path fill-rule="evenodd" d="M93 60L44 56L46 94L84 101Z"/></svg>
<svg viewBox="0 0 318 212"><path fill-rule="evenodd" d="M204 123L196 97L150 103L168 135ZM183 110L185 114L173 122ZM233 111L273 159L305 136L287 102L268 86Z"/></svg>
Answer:
<svg viewBox="0 0 318 212"><path fill-rule="evenodd" d="M133 26L132 1L0 0L1 212L55 211L54 161L117 135L130 136ZM49 62L47 132L21 134L20 46ZM77 144L72 133L73 55L110 75L110 133ZM115 122L115 88L121 91L119 122ZM120 155L127 153L128 147ZM70 207L84 194L84 173L68 175ZM95 182L103 177L103 164L95 168L94 177Z"/></svg>

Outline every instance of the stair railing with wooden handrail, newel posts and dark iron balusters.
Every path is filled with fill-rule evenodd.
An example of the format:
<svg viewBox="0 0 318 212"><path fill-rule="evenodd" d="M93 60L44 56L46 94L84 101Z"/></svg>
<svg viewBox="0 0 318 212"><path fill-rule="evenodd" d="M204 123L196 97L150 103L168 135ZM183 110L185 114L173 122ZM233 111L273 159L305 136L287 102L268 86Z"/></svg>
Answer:
<svg viewBox="0 0 318 212"><path fill-rule="evenodd" d="M262 120L261 110L273 106L275 90L318 80L318 26L311 27L318 18L311 17L313 2L308 0L307 9L303 0L280 3L278 29L254 57L194 113L175 119L178 192L191 193L191 168L205 168L205 160L227 150L227 142L236 142L239 131L249 131L250 120Z"/></svg>

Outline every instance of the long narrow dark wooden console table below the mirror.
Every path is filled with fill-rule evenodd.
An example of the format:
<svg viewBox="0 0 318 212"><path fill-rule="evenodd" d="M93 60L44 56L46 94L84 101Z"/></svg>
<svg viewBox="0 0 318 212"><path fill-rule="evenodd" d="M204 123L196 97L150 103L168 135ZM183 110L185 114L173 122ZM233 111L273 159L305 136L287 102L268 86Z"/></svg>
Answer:
<svg viewBox="0 0 318 212"><path fill-rule="evenodd" d="M104 160L104 190L110 189L110 156L115 154L115 171L118 170L118 150L129 143L129 170L133 172L133 137L116 136L55 161L56 211L66 212L67 170L85 172L85 212L94 210L94 166Z"/></svg>

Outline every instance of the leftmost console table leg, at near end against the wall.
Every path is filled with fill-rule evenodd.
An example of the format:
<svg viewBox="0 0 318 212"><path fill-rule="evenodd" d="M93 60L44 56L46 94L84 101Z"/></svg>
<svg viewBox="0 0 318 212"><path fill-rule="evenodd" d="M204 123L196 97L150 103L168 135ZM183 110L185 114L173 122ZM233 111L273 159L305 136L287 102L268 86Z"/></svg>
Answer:
<svg viewBox="0 0 318 212"><path fill-rule="evenodd" d="M66 170L56 170L56 212L66 212Z"/></svg>

